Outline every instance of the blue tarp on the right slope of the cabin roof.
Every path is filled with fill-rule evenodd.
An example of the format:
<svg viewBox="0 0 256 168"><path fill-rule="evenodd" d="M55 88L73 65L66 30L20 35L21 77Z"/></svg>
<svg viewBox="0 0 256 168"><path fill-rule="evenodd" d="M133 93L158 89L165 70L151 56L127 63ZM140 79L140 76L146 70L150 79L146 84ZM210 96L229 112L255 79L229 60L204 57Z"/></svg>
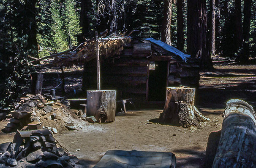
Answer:
<svg viewBox="0 0 256 168"><path fill-rule="evenodd" d="M182 53L182 52L181 52L180 50L178 50L177 48L172 47L172 46L170 46L170 45L167 45L166 43L164 43L164 42L162 42L162 41L160 41L160 40L156 40L156 39L153 39L153 38L147 38L147 39L145 39L145 40L150 41L150 42L153 42L153 43L155 43L156 45L159 45L160 47L162 47L164 50L167 50L167 51L169 51L169 52L171 52L171 53L174 53L174 55L179 56L180 58L182 58L182 60L185 60L185 62L186 62L186 60L187 60L188 58L190 58L190 55L185 54L185 53Z"/></svg>

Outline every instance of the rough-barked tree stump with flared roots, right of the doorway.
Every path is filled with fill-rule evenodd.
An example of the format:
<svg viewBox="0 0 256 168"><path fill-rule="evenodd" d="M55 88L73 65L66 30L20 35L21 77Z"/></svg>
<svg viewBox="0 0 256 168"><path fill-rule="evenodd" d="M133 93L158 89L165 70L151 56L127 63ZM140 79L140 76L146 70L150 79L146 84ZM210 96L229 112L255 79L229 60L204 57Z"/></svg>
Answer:
<svg viewBox="0 0 256 168"><path fill-rule="evenodd" d="M195 88L167 87L166 102L159 120L175 126L189 128L199 126L200 122L210 121L194 106Z"/></svg>

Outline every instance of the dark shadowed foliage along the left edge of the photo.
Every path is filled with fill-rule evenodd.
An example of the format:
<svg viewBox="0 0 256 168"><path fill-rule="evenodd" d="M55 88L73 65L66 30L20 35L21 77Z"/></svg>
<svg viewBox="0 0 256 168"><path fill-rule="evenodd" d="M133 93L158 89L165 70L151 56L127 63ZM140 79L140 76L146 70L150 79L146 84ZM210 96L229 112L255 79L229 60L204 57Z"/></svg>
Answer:
<svg viewBox="0 0 256 168"><path fill-rule="evenodd" d="M0 108L11 108L18 100L32 71L26 63L24 5L19 0L0 2Z"/></svg>

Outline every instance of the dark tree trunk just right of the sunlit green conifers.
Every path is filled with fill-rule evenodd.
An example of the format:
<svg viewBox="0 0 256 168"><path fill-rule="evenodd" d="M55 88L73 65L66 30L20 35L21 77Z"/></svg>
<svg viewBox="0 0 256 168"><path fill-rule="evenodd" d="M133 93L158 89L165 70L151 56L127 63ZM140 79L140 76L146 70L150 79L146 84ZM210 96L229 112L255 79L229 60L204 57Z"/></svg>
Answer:
<svg viewBox="0 0 256 168"><path fill-rule="evenodd" d="M81 10L80 10L80 27L82 27L82 36L86 37L89 32L89 11L91 8L91 0L81 0ZM82 42L83 39L80 39Z"/></svg>

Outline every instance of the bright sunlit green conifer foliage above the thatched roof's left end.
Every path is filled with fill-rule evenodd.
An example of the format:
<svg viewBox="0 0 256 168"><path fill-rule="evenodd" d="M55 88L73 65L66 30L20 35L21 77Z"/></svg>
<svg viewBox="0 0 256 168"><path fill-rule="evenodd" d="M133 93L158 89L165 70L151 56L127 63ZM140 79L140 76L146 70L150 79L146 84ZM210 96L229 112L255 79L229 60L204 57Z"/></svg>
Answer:
<svg viewBox="0 0 256 168"><path fill-rule="evenodd" d="M42 0L38 6L40 57L77 45L81 34L75 0Z"/></svg>

